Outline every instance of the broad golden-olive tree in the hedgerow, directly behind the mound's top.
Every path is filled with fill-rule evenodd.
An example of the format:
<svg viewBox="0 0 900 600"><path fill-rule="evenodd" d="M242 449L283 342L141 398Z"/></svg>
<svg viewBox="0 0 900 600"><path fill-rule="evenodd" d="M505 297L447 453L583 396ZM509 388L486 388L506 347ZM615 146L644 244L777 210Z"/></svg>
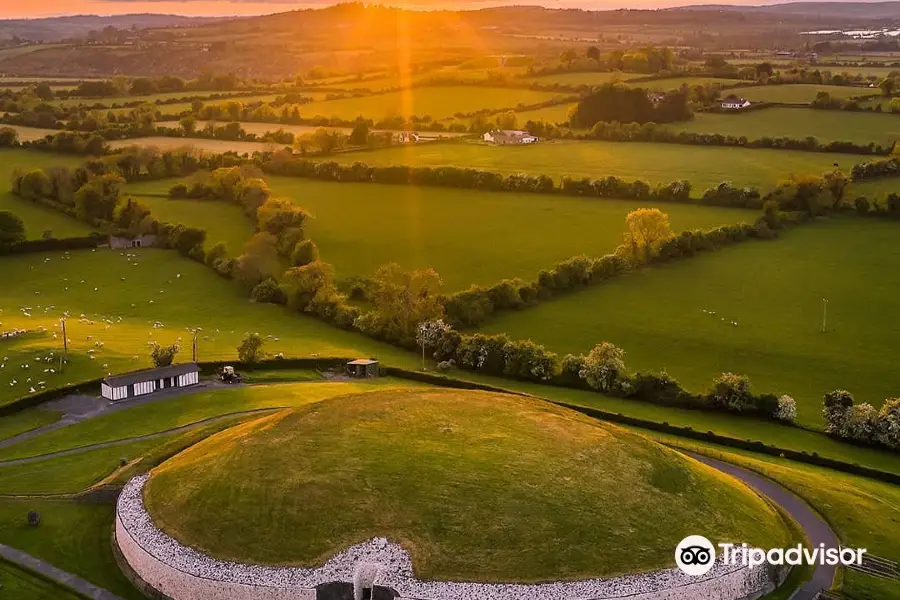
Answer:
<svg viewBox="0 0 900 600"><path fill-rule="evenodd" d="M380 267L371 284L370 297L375 310L361 317L361 328L412 345L419 323L444 316L439 296L442 285L434 269L404 271L395 263Z"/></svg>

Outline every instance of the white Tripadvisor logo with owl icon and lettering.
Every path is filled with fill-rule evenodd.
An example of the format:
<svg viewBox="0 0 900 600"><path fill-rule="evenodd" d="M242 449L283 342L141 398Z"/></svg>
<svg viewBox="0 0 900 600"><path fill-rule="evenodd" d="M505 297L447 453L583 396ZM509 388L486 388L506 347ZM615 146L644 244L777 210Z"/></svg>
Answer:
<svg viewBox="0 0 900 600"><path fill-rule="evenodd" d="M865 548L826 548L819 544L812 548L804 548L797 544L791 548L752 548L748 544L719 544L722 563L755 569L762 565L799 566L827 565L851 566L862 565ZM691 535L675 548L675 563L687 575L705 575L716 562L716 547L702 535Z"/></svg>

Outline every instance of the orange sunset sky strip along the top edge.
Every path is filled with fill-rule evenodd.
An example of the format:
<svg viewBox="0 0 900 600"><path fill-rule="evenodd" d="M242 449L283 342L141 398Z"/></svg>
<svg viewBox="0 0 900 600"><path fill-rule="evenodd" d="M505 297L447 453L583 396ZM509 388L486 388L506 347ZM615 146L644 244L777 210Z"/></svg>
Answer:
<svg viewBox="0 0 900 600"><path fill-rule="evenodd" d="M295 8L308 8L333 4L333 1L322 0L183 0L170 2L167 0L0 0L0 19L49 17L76 14L127 14L127 13L167 13L180 15L258 15L273 12L284 12ZM382 4L423 6L438 5L441 8L473 8L477 6L496 6L502 4L541 4L549 7L578 8L655 8L659 6L677 6L681 4L774 4L765 0L464 0L463 2L442 2L436 0L398 0L391 2L382 0Z"/></svg>

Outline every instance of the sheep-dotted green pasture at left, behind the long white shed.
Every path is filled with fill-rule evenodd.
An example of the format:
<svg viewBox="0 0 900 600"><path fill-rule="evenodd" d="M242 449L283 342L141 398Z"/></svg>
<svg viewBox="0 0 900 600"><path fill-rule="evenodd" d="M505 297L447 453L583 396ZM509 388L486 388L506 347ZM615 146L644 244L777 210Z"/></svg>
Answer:
<svg viewBox="0 0 900 600"><path fill-rule="evenodd" d="M0 290L3 327L35 331L4 344L9 361L0 370L0 404L27 395L29 386L37 389L37 381L28 383L27 377L54 388L144 368L149 364L147 343L153 340L173 343L181 338L185 349L179 358L186 360L187 329L196 327L203 330L198 338L202 360L233 359L246 333L257 332L272 354L380 356L392 364L415 363L413 355L392 346L280 306L254 304L233 283L172 251L98 249L69 256L63 260L62 253L52 252L0 260L4 274L16 282ZM63 373L43 373L57 365L35 358L62 351L52 333L66 311L72 316L67 324L71 364ZM40 333L40 327L48 331ZM95 358L88 358L88 350ZM18 383L10 385L14 380Z"/></svg>

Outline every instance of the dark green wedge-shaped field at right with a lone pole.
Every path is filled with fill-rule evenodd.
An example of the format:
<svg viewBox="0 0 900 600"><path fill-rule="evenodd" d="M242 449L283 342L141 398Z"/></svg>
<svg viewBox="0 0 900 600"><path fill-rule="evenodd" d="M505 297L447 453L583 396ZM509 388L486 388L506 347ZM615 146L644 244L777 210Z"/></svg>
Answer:
<svg viewBox="0 0 900 600"><path fill-rule="evenodd" d="M821 426L825 392L875 406L900 395L898 234L896 223L819 222L507 313L484 330L561 354L609 341L631 369L666 369L694 391L722 372L746 374L759 392L794 396L799 421Z"/></svg>

